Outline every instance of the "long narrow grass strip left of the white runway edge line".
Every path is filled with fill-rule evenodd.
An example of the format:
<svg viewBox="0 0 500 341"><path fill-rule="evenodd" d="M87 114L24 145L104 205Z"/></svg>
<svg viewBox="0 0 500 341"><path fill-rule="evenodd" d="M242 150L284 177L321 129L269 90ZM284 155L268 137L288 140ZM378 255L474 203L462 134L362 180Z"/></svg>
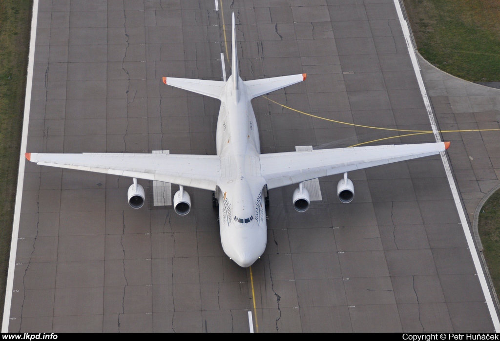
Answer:
<svg viewBox="0 0 500 341"><path fill-rule="evenodd" d="M31 0L0 1L0 309L8 271L26 68Z"/></svg>

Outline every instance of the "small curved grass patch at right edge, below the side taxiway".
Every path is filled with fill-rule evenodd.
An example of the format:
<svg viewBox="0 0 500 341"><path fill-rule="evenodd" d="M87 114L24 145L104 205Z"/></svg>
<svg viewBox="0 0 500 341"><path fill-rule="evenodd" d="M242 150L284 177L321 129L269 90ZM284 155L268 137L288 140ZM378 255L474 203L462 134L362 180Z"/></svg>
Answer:
<svg viewBox="0 0 500 341"><path fill-rule="evenodd" d="M482 253L486 259L496 295L500 297L500 190L494 192L482 205L477 223L482 243Z"/></svg>

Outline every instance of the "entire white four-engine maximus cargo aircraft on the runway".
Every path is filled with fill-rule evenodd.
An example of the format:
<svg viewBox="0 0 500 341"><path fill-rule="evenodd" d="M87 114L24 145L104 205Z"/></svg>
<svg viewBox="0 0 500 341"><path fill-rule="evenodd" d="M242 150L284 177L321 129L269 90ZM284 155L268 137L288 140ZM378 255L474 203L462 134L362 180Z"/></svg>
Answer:
<svg viewBox="0 0 500 341"><path fill-rule="evenodd" d="M232 14L232 68L227 81L163 77L167 85L220 100L217 121L217 155L163 155L123 153L26 153L37 165L129 176L128 202L144 203L144 189L137 178L179 185L173 196L176 213L191 208L184 187L213 191L218 204L220 240L227 256L241 267L252 265L267 241L265 196L267 189L298 183L292 203L298 212L309 206L302 182L343 174L337 185L342 202L354 197L347 171L438 154L449 142L324 149L307 152L260 154L252 98L305 80L305 74L243 81L238 73L234 13Z"/></svg>

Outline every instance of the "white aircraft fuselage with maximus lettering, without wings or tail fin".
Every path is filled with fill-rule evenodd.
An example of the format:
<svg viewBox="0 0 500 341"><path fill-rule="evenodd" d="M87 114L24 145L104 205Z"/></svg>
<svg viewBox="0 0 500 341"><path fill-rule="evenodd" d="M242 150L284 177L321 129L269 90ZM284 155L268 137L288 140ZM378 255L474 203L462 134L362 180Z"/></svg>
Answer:
<svg viewBox="0 0 500 341"><path fill-rule="evenodd" d="M251 96L241 79L238 89L233 89L230 77L221 96L216 135L221 172L216 189L220 240L229 258L248 267L262 255L267 242L262 198L265 180L260 173L260 142Z"/></svg>

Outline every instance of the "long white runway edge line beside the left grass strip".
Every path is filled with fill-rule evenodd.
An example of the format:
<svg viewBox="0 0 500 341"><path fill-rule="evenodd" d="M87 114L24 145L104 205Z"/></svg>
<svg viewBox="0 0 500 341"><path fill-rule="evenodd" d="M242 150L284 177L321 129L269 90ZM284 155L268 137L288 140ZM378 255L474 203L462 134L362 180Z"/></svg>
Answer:
<svg viewBox="0 0 500 341"><path fill-rule="evenodd" d="M33 85L34 48L36 39L36 23L38 20L38 0L33 1L33 17L31 19L31 35L29 37L28 71L26 76L26 96L24 98L24 119L22 120L21 153L19 156L19 172L17 174L17 190L15 192L14 221L12 224L12 239L10 241L10 259L8 261L7 287L5 290L5 305L1 332L8 333L10 305L12 303L12 288L14 284L15 254L17 251L17 236L19 235L19 217L21 215L22 185L24 183L24 166L26 145L28 139L29 107L31 105L31 88Z"/></svg>

